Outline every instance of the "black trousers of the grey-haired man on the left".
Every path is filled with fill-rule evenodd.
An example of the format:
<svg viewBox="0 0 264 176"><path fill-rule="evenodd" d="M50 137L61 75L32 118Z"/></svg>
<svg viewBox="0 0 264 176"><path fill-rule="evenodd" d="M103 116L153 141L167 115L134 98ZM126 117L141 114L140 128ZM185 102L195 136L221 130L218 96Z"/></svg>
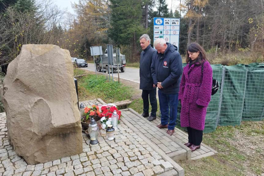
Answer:
<svg viewBox="0 0 264 176"><path fill-rule="evenodd" d="M143 99L143 112L147 114L149 113L149 101L150 101L152 117L156 117L156 112L158 109L156 94L157 94L157 89L151 89L151 90L142 90L142 95L141 95Z"/></svg>

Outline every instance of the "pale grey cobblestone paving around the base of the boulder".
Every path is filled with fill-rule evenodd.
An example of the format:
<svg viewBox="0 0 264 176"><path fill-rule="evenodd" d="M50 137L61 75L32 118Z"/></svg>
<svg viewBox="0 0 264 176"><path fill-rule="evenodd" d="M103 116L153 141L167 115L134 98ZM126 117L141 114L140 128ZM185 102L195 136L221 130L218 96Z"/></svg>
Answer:
<svg viewBox="0 0 264 176"><path fill-rule="evenodd" d="M85 103L92 105L99 102ZM17 156L9 144L6 115L0 113L0 176L178 175L173 167L175 163L163 160L161 155L124 123L121 122L118 127L112 141L107 140L105 131L101 130L99 144L90 145L90 140L83 133L83 153L32 165Z"/></svg>

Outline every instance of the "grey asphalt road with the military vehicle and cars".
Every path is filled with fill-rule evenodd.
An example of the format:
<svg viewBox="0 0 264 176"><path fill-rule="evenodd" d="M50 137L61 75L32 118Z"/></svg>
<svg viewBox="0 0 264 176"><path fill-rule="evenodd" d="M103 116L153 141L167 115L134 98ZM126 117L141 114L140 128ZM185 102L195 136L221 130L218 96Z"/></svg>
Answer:
<svg viewBox="0 0 264 176"><path fill-rule="evenodd" d="M88 67L83 67L86 70L95 71L95 65L88 63ZM103 72L97 72L98 74L103 74ZM104 74L106 74L106 71L104 70ZM110 72L110 76L112 76L112 73ZM113 71L113 76L118 78L118 72ZM139 68L125 68L125 72L121 72L119 70L119 78L126 79L128 81L133 81L136 83L139 83Z"/></svg>

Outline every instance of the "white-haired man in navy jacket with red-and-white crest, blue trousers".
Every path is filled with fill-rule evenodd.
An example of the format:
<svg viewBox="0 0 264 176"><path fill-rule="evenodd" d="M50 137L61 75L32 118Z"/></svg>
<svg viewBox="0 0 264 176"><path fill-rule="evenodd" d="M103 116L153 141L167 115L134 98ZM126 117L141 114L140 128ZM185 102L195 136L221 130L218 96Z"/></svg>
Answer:
<svg viewBox="0 0 264 176"><path fill-rule="evenodd" d="M168 128L167 134L172 135L177 119L182 60L177 46L166 43L164 39L155 40L154 47L157 53L153 57L151 72L154 84L158 86L161 112L161 124L157 127Z"/></svg>

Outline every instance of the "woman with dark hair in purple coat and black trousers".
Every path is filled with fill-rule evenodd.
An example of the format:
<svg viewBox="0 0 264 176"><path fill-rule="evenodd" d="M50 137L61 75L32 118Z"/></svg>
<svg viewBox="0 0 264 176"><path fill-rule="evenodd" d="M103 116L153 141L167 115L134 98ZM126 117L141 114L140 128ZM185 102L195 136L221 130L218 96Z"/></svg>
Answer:
<svg viewBox="0 0 264 176"><path fill-rule="evenodd" d="M187 65L183 68L180 82L180 125L187 127L188 143L195 151L203 139L206 108L211 100L213 71L203 48L197 43L188 46Z"/></svg>

